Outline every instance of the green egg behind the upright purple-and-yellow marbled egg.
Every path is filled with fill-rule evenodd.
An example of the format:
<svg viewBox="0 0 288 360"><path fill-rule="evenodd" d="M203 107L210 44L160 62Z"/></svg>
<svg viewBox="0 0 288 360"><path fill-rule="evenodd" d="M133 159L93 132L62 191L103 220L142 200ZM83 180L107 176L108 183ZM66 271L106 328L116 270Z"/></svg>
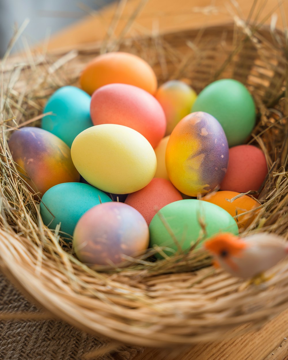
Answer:
<svg viewBox="0 0 288 360"><path fill-rule="evenodd" d="M191 112L204 111L223 127L229 147L243 144L256 121L255 103L246 87L237 80L212 82L201 91Z"/></svg>

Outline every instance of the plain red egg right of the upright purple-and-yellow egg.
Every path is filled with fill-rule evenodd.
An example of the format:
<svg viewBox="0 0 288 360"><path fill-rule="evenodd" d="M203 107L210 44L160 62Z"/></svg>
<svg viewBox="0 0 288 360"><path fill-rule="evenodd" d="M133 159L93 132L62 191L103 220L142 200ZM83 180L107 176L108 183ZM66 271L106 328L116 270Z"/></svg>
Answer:
<svg viewBox="0 0 288 360"><path fill-rule="evenodd" d="M228 169L220 189L239 193L258 190L267 174L262 150L253 145L238 145L229 149Z"/></svg>

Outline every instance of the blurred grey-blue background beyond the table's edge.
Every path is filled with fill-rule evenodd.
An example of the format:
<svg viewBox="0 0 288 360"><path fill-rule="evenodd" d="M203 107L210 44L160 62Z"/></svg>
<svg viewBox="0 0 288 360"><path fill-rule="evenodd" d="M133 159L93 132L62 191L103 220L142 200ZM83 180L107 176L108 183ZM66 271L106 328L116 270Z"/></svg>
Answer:
<svg viewBox="0 0 288 360"><path fill-rule="evenodd" d="M30 22L25 37L31 46L113 0L0 0L0 58L3 57L15 28L25 19ZM95 29L96 31L96 29ZM23 49L18 40L13 51Z"/></svg>

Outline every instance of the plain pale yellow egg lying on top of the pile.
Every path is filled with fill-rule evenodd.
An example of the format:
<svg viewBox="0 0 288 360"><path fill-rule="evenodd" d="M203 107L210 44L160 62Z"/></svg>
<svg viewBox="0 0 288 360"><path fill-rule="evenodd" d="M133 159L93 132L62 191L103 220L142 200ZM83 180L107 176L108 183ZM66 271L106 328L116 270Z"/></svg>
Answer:
<svg viewBox="0 0 288 360"><path fill-rule="evenodd" d="M113 194L144 188L157 167L148 140L123 125L103 124L82 131L73 141L71 156L88 183Z"/></svg>

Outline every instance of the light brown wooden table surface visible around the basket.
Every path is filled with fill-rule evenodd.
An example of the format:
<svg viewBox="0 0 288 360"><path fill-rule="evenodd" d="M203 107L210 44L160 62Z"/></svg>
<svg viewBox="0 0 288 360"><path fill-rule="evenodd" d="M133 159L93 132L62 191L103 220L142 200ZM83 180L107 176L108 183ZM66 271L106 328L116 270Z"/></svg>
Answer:
<svg viewBox="0 0 288 360"><path fill-rule="evenodd" d="M112 4L99 13L91 12L84 20L51 37L48 50L70 50L101 41L107 36L108 28L113 22L114 35L110 34L111 38L119 35L127 37L165 33L229 23L235 15L246 19L251 6L252 0L239 0L239 4L232 0L121 0L118 7L117 4ZM117 12L118 15L114 16ZM129 18L136 13L138 15L131 24ZM288 14L288 0L284 0L280 8L278 0L257 1L252 18L258 16L257 22L270 24L271 13L275 14L272 22L277 19L276 27L283 29L285 21L282 15ZM135 360L288 360L286 338L288 310L258 332L245 334L237 339L197 344L176 352L147 348Z"/></svg>

